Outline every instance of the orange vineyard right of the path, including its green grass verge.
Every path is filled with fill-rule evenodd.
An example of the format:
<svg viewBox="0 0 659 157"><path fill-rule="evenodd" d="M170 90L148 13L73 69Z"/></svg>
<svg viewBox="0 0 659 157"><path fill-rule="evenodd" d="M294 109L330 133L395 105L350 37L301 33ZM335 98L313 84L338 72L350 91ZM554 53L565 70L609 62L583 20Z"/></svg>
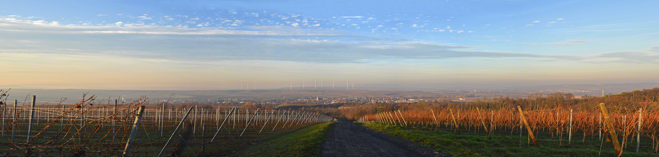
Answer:
<svg viewBox="0 0 659 157"><path fill-rule="evenodd" d="M370 110L373 114L357 119L378 131L459 156L616 156L619 152L656 156L657 91L590 99L556 93L462 106L394 104L376 107ZM355 106L352 110L369 109Z"/></svg>

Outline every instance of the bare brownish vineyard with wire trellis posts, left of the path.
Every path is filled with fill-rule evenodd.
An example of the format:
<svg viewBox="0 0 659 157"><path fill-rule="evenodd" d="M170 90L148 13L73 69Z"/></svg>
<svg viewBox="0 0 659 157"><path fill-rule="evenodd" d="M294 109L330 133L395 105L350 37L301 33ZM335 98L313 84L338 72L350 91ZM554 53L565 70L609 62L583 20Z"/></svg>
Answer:
<svg viewBox="0 0 659 157"><path fill-rule="evenodd" d="M6 96L6 92L0 94ZM0 100L2 97L0 97ZM120 103L0 101L0 156L205 156L333 118L316 112ZM31 99L31 100L30 100Z"/></svg>

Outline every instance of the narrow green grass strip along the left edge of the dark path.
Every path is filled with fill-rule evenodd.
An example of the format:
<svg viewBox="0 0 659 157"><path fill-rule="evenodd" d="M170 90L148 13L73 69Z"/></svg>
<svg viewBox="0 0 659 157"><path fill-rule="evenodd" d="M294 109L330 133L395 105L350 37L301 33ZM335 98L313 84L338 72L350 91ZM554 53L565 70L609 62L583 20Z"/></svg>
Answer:
<svg viewBox="0 0 659 157"><path fill-rule="evenodd" d="M333 122L316 123L293 133L260 143L242 156L318 156L320 144Z"/></svg>

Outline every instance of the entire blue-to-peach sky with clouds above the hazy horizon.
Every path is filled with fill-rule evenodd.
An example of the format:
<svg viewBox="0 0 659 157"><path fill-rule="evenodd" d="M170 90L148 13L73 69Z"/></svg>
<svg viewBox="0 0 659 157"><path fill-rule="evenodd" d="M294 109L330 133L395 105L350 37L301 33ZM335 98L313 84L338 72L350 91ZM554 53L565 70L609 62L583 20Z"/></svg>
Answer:
<svg viewBox="0 0 659 157"><path fill-rule="evenodd" d="M659 79L656 1L3 1L0 8L3 87Z"/></svg>

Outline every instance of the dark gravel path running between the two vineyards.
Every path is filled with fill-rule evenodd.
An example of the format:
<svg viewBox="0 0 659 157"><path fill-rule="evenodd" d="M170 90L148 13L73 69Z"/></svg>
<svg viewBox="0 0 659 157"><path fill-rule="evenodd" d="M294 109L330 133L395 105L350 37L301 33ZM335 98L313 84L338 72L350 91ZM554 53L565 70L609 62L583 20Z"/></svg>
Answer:
<svg viewBox="0 0 659 157"><path fill-rule="evenodd" d="M392 142L390 142L392 141ZM450 156L405 139L363 127L361 123L339 122L329 129L320 156Z"/></svg>

